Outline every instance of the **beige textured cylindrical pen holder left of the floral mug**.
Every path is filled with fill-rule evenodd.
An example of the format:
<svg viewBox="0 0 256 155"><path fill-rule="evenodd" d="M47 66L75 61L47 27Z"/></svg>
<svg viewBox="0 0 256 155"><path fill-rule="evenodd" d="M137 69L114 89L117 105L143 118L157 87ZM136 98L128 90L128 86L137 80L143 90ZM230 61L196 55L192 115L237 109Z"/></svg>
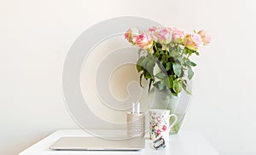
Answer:
<svg viewBox="0 0 256 155"><path fill-rule="evenodd" d="M131 113L127 112L127 135L144 136L145 135L145 113Z"/></svg>

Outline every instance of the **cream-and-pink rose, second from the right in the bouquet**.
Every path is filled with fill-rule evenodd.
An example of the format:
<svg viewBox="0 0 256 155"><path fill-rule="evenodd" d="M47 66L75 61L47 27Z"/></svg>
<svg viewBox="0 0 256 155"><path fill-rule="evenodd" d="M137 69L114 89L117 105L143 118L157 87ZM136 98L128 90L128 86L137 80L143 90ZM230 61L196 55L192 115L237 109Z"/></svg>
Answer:
<svg viewBox="0 0 256 155"><path fill-rule="evenodd" d="M184 37L184 46L188 49L197 50L202 45L201 36L197 33L187 34Z"/></svg>

